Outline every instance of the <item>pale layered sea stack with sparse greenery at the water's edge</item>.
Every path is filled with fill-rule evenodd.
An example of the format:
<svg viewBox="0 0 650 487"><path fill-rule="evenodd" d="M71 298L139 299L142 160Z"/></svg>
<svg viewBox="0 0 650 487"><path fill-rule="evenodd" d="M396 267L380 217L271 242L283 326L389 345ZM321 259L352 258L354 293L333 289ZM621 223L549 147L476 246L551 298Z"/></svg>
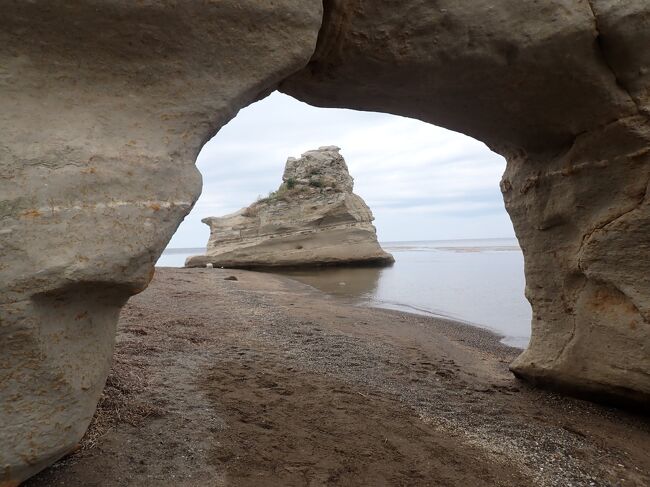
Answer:
<svg viewBox="0 0 650 487"><path fill-rule="evenodd" d="M393 256L377 242L372 212L353 186L338 147L290 157L277 191L230 215L202 220L210 226L207 252L185 266L392 264Z"/></svg>

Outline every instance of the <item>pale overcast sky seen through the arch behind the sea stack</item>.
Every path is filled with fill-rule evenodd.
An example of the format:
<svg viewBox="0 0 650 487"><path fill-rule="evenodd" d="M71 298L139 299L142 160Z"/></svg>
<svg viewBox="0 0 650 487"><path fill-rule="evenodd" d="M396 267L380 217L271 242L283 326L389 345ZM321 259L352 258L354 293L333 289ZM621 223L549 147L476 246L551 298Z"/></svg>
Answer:
<svg viewBox="0 0 650 487"><path fill-rule="evenodd" d="M501 156L481 142L417 120L315 108L273 93L239 112L205 145L203 193L169 248L204 247L201 218L232 213L277 189L287 157L341 147L354 191L380 241L513 237L499 180Z"/></svg>

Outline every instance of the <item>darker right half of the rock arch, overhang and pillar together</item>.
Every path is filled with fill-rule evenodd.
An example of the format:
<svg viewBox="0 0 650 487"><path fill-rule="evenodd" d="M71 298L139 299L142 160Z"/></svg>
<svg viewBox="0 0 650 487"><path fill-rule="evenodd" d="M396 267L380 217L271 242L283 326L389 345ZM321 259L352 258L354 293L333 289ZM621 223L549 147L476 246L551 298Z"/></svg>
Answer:
<svg viewBox="0 0 650 487"><path fill-rule="evenodd" d="M506 157L534 316L512 370L637 403L650 400L649 19L642 1L331 0L312 61L282 84Z"/></svg>

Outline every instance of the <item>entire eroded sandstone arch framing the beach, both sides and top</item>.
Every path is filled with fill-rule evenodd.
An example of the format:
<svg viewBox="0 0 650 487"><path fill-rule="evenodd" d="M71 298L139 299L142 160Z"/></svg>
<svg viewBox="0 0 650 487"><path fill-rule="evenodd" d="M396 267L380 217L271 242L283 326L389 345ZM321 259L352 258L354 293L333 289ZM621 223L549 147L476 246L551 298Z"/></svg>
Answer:
<svg viewBox="0 0 650 487"><path fill-rule="evenodd" d="M324 7L3 2L0 483L83 434L119 309L198 197L198 151L278 86L316 105L419 118L504 155L534 310L513 370L648 400L650 7Z"/></svg>

